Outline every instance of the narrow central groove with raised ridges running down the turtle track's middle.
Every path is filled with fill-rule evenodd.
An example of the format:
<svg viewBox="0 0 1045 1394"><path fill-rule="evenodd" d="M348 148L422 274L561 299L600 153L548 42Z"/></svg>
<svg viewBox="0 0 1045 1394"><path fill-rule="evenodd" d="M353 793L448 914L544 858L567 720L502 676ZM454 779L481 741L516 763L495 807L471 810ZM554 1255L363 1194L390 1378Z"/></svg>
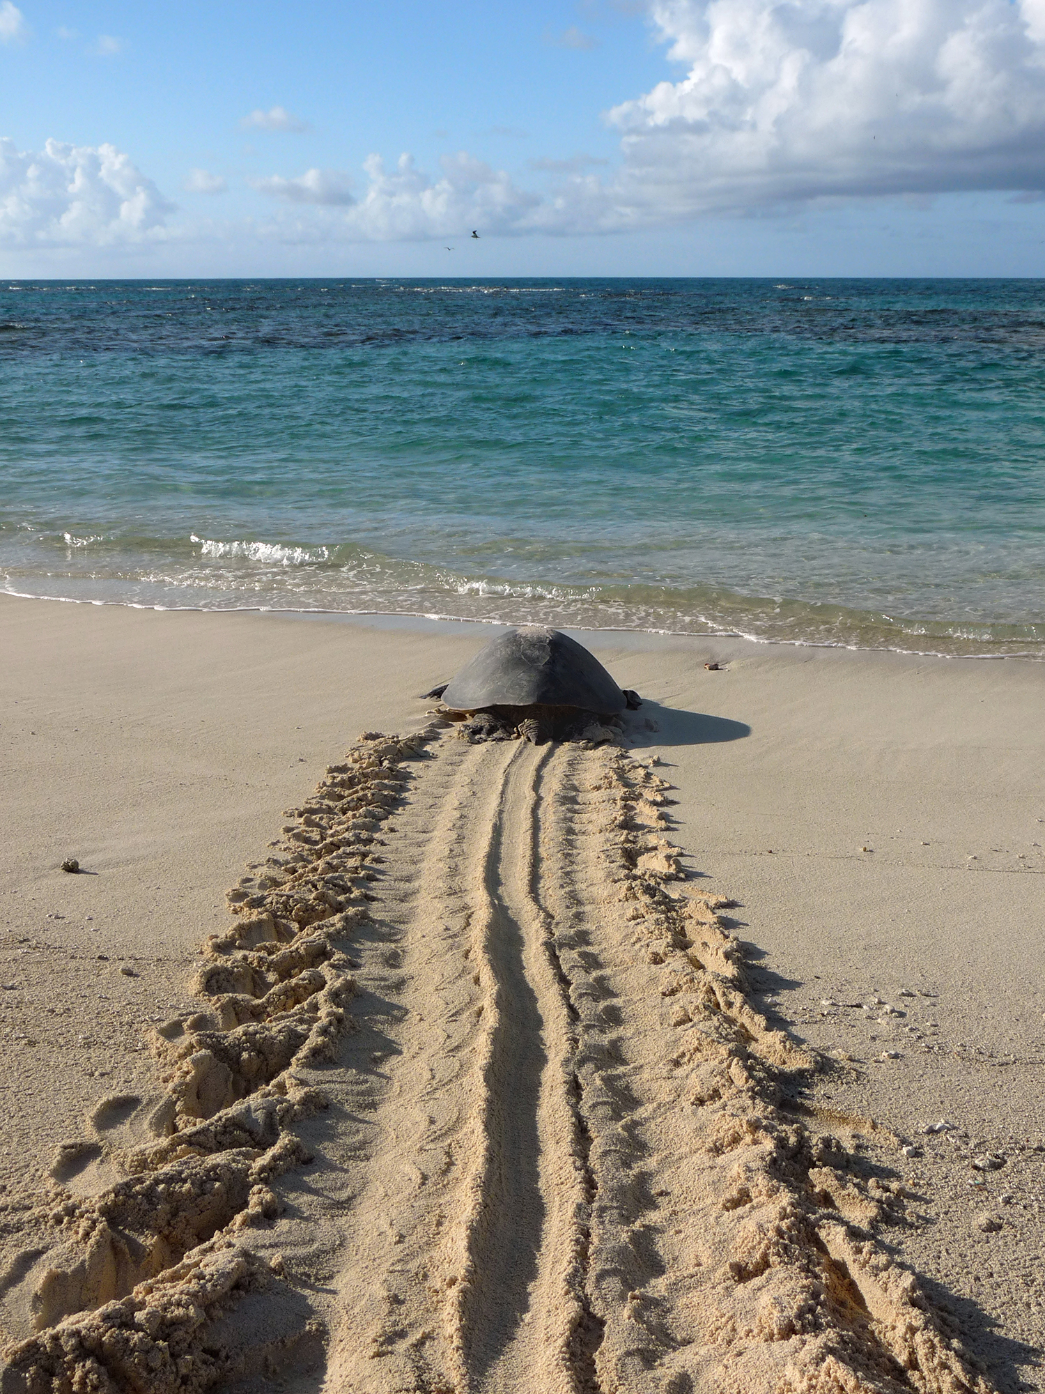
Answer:
<svg viewBox="0 0 1045 1394"><path fill-rule="evenodd" d="M575 1040L539 899L541 786L562 751L518 747L483 868L481 952L496 983L488 1025L485 1149L460 1299L468 1387L539 1383L571 1394L582 1316L588 1195L574 1100Z"/></svg>

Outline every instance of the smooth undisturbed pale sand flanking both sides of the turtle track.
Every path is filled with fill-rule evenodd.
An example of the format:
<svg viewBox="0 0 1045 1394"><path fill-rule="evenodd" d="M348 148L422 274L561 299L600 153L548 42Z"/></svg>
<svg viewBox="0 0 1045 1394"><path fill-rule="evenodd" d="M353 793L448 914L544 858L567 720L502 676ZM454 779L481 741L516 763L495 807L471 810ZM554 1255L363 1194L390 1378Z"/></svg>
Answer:
<svg viewBox="0 0 1045 1394"><path fill-rule="evenodd" d="M881 1125L860 1150L911 1197L883 1241L1014 1394L1045 1345L1039 664L578 633L644 697L633 749L673 786L691 884L738 902L752 1002L826 1062L803 1107ZM156 1090L150 1027L198 1009L198 947L283 810L359 730L417 729L417 694L488 634L0 595L10 1190L100 1100ZM1005 1164L977 1171L988 1153Z"/></svg>

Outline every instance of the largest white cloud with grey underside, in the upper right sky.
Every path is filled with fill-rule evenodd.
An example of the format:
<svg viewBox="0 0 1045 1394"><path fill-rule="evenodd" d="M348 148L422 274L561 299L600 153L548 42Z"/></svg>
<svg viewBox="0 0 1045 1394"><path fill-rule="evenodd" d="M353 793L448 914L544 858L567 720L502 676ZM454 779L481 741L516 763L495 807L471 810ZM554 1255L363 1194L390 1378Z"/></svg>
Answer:
<svg viewBox="0 0 1045 1394"><path fill-rule="evenodd" d="M1045 0L653 0L687 66L609 113L663 219L1045 188Z"/></svg>

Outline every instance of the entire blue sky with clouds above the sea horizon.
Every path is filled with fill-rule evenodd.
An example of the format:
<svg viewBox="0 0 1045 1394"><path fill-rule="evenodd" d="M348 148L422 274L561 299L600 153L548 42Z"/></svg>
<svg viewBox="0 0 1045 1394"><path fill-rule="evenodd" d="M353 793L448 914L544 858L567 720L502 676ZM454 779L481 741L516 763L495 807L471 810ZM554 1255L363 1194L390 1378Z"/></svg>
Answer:
<svg viewBox="0 0 1045 1394"><path fill-rule="evenodd" d="M3 276L1044 272L1045 0L0 0Z"/></svg>

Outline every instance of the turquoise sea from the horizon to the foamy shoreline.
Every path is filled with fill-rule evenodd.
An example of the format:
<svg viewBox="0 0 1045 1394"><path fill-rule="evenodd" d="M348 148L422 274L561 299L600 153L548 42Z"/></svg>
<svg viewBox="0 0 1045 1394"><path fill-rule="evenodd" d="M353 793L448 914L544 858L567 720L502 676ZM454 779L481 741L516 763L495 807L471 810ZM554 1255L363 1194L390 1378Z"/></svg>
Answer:
<svg viewBox="0 0 1045 1394"><path fill-rule="evenodd" d="M0 587L1045 655L1045 283L0 282Z"/></svg>

